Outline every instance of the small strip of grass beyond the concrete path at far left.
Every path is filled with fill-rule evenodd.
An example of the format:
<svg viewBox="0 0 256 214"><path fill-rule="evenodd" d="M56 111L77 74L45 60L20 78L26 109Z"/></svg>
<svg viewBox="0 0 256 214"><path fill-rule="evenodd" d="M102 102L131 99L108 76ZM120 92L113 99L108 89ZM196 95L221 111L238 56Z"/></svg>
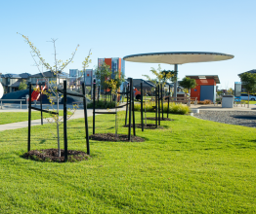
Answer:
<svg viewBox="0 0 256 214"><path fill-rule="evenodd" d="M63 115L63 111L60 111L60 116ZM51 115L48 113L43 113L43 118L50 118ZM32 111L31 120L41 119L41 112ZM28 121L28 111L27 112L0 112L0 125L13 124L17 122Z"/></svg>

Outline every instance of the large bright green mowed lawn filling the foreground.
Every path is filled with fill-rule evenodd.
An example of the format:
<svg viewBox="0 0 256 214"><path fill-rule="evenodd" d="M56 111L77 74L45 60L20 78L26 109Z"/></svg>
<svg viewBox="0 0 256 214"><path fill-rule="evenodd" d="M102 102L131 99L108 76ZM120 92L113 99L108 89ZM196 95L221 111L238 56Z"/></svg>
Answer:
<svg viewBox="0 0 256 214"><path fill-rule="evenodd" d="M119 133L128 131L124 116ZM136 129L145 142L91 140L91 158L80 162L24 160L27 128L2 131L0 212L256 212L255 129L170 117L161 122L164 129ZM140 113L136 118L139 123ZM97 116L96 127L114 133L114 117ZM31 129L32 150L57 148L54 125ZM83 120L69 121L67 130L68 149L86 152Z"/></svg>

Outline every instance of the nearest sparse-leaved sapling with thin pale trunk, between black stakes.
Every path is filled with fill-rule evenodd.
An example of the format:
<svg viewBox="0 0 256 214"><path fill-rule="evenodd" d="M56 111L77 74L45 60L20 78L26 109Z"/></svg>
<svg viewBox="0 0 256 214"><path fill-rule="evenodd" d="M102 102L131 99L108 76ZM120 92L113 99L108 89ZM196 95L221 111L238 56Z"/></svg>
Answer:
<svg viewBox="0 0 256 214"><path fill-rule="evenodd" d="M18 33L20 34L20 33ZM77 45L75 51L71 54L70 58L66 59L65 61L61 60L61 59L57 59L57 50L56 50L56 41L57 39L52 39L50 42L53 43L54 46L54 65L51 66L49 63L46 62L46 60L42 57L40 51L33 45L33 43L31 43L31 41L28 39L27 36L24 36L22 34L20 34L22 36L22 38L24 39L24 41L28 44L29 48L30 48L30 54L35 62L35 65L37 66L37 69L39 70L39 72L44 76L43 74L43 67L46 68L47 70L50 70L51 72L54 73L54 75L56 76L56 81L52 81L49 83L49 87L50 89L48 89L49 92L44 91L45 94L48 95L48 99L50 101L50 103L52 104L52 108L54 109L54 104L55 102L53 101L53 99L51 98L51 94L53 93L56 97L57 100L57 115L53 115L53 119L56 123L57 126L57 139L58 139L58 151L59 151L59 156L61 157L61 145L60 145L60 133L59 133L59 126L62 124L61 121L63 118L59 117L59 100L61 98L60 93L58 91L59 89L59 75L63 73L64 68L70 63L72 62L72 59L74 57L74 55L76 54L76 51L79 47L79 45ZM85 60L82 62L83 65L83 69L85 69L88 65L88 63L91 62L91 60L89 59L91 52L89 52L88 56L85 57ZM42 67L42 68L41 68ZM47 79L45 79L47 80ZM40 90L40 89L37 89ZM70 118L73 113L75 111L75 107L73 108L72 114L69 114Z"/></svg>

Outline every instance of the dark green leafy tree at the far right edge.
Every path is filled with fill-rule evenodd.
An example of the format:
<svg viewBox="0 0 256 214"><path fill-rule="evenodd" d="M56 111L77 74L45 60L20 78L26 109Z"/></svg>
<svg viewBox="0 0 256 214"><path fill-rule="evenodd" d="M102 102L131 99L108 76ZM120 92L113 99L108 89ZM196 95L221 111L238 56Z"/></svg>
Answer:
<svg viewBox="0 0 256 214"><path fill-rule="evenodd" d="M252 73L243 73L239 75L241 79L241 85L244 89L246 89L248 93L248 108L249 108L249 101L250 101L250 93L256 90L256 74Z"/></svg>

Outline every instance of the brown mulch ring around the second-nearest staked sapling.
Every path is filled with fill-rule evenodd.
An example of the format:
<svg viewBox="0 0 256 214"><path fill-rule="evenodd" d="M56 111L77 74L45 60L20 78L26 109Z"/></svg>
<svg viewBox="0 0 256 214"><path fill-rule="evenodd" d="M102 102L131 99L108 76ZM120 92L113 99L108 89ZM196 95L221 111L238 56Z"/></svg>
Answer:
<svg viewBox="0 0 256 214"><path fill-rule="evenodd" d="M128 141L128 135L126 134L117 134L117 139L115 138L114 133L96 133L90 135L90 139L99 140L99 141ZM144 142L145 140L142 137L131 135L131 142Z"/></svg>

